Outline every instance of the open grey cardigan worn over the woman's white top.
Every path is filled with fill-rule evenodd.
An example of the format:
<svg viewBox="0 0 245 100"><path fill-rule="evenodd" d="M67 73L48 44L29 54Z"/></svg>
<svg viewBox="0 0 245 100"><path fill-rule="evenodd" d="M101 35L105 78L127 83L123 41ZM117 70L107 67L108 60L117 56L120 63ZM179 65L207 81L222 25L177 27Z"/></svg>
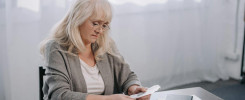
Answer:
<svg viewBox="0 0 245 100"><path fill-rule="evenodd" d="M96 65L105 84L103 95L127 94L129 86L140 85L137 76L123 60L108 53L101 57ZM87 87L78 56L63 52L58 43L50 41L45 48L45 67L45 100L86 100Z"/></svg>

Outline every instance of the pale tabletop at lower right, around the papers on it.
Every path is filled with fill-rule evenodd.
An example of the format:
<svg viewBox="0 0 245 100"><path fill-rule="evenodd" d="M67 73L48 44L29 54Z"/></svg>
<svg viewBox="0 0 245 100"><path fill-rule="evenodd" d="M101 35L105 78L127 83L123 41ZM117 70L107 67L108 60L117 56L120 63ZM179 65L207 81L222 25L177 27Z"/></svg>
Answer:
<svg viewBox="0 0 245 100"><path fill-rule="evenodd" d="M208 92L207 90L205 90L201 87L193 87L193 88L186 88L186 89L177 89L177 90L155 92L151 95L150 100L164 100L161 98L164 98L167 94L196 95L201 100L223 100L220 97Z"/></svg>

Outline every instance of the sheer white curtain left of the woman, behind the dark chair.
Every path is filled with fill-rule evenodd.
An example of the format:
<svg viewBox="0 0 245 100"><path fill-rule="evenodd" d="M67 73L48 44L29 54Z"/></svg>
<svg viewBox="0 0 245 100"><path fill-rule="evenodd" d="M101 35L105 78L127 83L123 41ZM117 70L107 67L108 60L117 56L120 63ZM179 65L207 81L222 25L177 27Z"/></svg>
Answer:
<svg viewBox="0 0 245 100"><path fill-rule="evenodd" d="M3 63L0 72L4 73L0 74L4 74L1 79L4 85L0 86L4 87L6 100L39 98L38 66L43 65L43 61L38 45L64 16L70 3L67 0L1 0Z"/></svg>

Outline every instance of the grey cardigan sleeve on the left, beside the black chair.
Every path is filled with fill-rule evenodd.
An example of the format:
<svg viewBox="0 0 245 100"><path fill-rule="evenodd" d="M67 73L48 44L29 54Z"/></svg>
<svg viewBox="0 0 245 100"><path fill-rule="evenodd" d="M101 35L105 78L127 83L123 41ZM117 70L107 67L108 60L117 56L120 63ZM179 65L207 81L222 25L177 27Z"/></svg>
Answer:
<svg viewBox="0 0 245 100"><path fill-rule="evenodd" d="M87 93L71 90L71 79L61 51L56 46L46 47L46 76L43 87L45 100L86 100Z"/></svg>

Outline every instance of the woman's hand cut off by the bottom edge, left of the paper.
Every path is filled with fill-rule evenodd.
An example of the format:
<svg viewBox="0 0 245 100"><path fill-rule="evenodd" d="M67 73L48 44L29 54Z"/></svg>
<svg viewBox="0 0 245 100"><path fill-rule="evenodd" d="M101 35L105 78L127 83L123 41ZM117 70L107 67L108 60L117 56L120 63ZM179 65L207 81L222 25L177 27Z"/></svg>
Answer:
<svg viewBox="0 0 245 100"><path fill-rule="evenodd" d="M114 95L109 95L106 100L135 100L135 99L124 94L114 94Z"/></svg>

